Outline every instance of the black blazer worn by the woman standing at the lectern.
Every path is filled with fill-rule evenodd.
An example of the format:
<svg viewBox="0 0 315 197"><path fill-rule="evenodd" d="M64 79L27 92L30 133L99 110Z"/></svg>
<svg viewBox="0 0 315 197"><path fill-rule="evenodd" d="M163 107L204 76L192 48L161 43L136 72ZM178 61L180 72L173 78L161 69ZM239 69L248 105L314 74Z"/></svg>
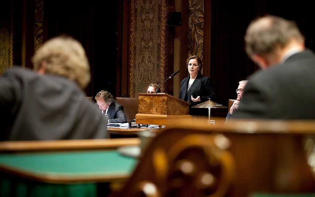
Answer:
<svg viewBox="0 0 315 197"><path fill-rule="evenodd" d="M191 107L209 99L214 100L216 98L215 90L212 87L209 77L198 74L194 83L192 83L192 86L190 86L189 91L187 92L189 78L190 77L186 77L181 81L178 98L190 102ZM200 96L201 101L194 102L192 101L191 96L194 98Z"/></svg>

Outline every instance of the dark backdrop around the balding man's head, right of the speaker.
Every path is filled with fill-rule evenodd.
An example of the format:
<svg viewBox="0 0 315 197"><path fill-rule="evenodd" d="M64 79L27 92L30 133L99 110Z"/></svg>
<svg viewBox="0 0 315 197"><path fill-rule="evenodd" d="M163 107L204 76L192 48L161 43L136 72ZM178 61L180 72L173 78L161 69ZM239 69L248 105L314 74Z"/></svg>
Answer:
<svg viewBox="0 0 315 197"><path fill-rule="evenodd" d="M210 58L210 79L218 95L218 102L227 106L228 99L235 99L238 81L246 79L259 67L245 53L244 35L250 21L265 14L278 15L295 20L306 36L306 47L315 49L315 28L312 20L315 3L302 0L289 4L287 1L204 1L206 8L211 6L211 49L210 57L204 54L204 63ZM285 5L285 9L284 9ZM206 18L205 13L205 18ZM205 31L207 30L205 19ZM205 34L207 34L205 32ZM204 37L204 50L209 35ZM207 64L207 63L206 63ZM206 65L204 64L204 65ZM206 66L204 66L206 67ZM206 68L204 68L206 71ZM204 73L206 75L206 73Z"/></svg>

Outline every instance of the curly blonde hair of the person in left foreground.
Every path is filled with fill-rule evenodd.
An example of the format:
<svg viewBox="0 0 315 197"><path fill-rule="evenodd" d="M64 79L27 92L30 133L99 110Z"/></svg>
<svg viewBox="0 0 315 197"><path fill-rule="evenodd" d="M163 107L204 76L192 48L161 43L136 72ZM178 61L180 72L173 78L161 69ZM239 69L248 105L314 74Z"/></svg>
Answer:
<svg viewBox="0 0 315 197"><path fill-rule="evenodd" d="M32 57L34 70L46 62L46 73L61 75L75 81L84 89L91 80L88 58L81 43L68 36L45 42Z"/></svg>

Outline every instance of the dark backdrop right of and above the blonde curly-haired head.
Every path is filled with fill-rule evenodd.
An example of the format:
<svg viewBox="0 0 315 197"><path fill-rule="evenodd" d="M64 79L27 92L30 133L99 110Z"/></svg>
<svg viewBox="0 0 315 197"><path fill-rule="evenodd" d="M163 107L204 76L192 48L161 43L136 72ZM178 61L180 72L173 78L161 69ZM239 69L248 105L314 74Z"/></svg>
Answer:
<svg viewBox="0 0 315 197"><path fill-rule="evenodd" d="M47 38L67 34L82 43L89 58L91 83L87 96L107 90L116 96L117 1L45 1L44 29ZM111 12L105 12L105 10ZM118 69L119 71L119 69Z"/></svg>

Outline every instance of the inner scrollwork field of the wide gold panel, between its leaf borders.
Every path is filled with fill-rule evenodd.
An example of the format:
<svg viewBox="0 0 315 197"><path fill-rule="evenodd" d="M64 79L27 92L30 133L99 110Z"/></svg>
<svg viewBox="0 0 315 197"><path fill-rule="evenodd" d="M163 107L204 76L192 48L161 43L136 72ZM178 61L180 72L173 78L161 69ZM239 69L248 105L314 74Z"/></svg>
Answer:
<svg viewBox="0 0 315 197"><path fill-rule="evenodd" d="M138 1L136 25L135 93L157 81L158 4Z"/></svg>

